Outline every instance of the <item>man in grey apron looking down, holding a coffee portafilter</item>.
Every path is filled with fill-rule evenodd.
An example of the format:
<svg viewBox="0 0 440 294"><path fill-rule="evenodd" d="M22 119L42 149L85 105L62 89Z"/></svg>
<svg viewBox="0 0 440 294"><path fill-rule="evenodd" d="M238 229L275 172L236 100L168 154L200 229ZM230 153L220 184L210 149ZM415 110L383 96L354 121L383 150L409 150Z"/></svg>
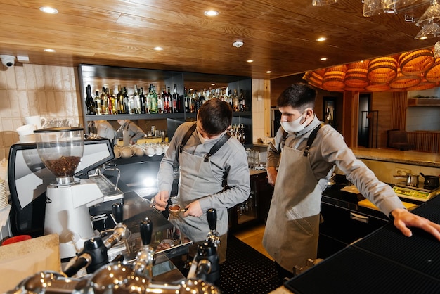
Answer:
<svg viewBox="0 0 440 294"><path fill-rule="evenodd" d="M179 167L179 191L172 202L187 210L181 212L180 217L169 220L190 240L200 243L209 232L206 211L215 208L216 230L221 235L220 262L226 257L227 209L244 202L250 194L246 151L237 139L229 137L216 153L206 156L222 136L228 137L231 120L231 106L213 98L203 103L197 122L186 122L176 129L160 163L159 193L154 198L156 209L165 210L172 191L174 167ZM190 134L188 141L181 146L187 132ZM193 247L191 253L195 253L194 250Z"/></svg>

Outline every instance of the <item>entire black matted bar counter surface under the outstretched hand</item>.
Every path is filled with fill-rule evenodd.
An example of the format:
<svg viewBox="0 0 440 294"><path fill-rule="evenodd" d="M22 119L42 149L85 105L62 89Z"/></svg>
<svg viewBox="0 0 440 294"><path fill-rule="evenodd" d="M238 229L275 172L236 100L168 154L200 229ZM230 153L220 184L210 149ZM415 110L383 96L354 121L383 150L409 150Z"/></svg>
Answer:
<svg viewBox="0 0 440 294"><path fill-rule="evenodd" d="M440 223L440 197L413 213ZM421 229L406 237L389 223L285 286L300 293L440 293L440 242ZM318 283L317 283L318 281Z"/></svg>

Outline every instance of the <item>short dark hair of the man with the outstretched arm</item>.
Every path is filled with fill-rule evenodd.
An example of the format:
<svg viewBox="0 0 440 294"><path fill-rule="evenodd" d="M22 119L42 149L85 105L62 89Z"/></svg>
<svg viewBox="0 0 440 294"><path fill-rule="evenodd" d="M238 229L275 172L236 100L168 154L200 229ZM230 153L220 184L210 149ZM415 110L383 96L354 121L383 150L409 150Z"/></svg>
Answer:
<svg viewBox="0 0 440 294"><path fill-rule="evenodd" d="M285 89L277 99L278 107L291 106L292 108L314 108L316 89L308 84L292 84Z"/></svg>

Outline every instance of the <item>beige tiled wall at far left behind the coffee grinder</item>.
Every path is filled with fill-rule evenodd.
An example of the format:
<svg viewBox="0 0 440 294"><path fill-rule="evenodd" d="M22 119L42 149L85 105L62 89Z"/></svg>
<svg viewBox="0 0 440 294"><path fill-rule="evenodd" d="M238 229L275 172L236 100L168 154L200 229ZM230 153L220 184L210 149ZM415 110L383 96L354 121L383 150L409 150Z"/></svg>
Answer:
<svg viewBox="0 0 440 294"><path fill-rule="evenodd" d="M0 159L8 158L9 148L18 142L15 130L27 116L82 122L77 85L77 68L30 64L0 68Z"/></svg>

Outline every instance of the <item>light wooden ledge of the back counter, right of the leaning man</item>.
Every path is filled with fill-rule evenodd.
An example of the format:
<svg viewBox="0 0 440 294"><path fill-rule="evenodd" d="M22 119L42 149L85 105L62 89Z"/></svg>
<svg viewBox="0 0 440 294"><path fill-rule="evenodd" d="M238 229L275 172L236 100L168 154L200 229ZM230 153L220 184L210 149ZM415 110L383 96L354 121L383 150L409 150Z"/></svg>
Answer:
<svg viewBox="0 0 440 294"><path fill-rule="evenodd" d="M351 150L353 150L356 158L359 159L397 162L425 167L440 167L440 154L438 153L399 151L396 149L381 148L352 148Z"/></svg>

